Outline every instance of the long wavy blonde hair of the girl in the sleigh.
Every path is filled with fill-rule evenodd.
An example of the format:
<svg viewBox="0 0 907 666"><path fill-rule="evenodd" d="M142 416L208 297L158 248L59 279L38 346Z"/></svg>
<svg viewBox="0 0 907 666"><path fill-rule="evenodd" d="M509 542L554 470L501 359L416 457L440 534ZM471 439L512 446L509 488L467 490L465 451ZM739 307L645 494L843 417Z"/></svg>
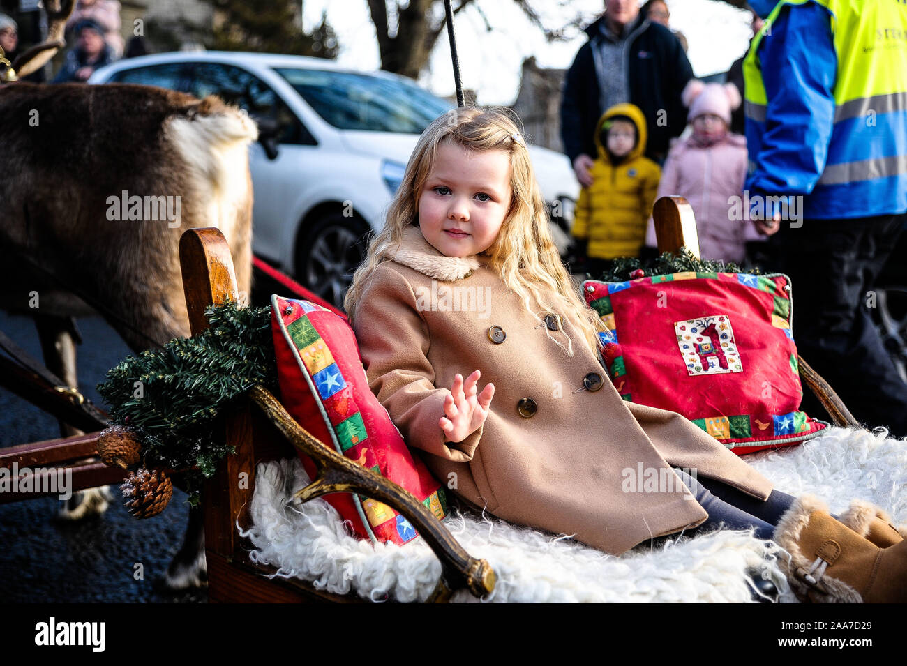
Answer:
<svg viewBox="0 0 907 666"><path fill-rule="evenodd" d="M543 322L542 317L547 312L573 314L575 321L580 323L582 339L591 350L599 352L598 333L605 330L604 324L583 302L579 289L573 285L561 262L561 254L551 238L544 199L517 122L508 110L461 108L448 111L424 130L387 211L385 226L369 244L366 260L356 270L346 292L344 308L350 323L356 317L356 304L375 268L394 255L392 248L400 246L405 227L417 223L419 197L437 159L438 146L451 142L476 152L503 150L510 155L511 205L498 237L482 253L489 259L488 267L520 296L526 309L538 321ZM532 306L532 297L541 311ZM549 333L547 327L545 331ZM566 347L556 338L552 340L573 356L571 337L566 331L564 333L568 337Z"/></svg>

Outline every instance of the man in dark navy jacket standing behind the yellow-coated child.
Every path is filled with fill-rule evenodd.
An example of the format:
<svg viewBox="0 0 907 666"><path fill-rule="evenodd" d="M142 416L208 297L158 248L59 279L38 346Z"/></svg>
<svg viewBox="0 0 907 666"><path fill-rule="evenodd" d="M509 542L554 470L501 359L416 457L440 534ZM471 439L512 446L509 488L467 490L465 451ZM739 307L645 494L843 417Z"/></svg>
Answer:
<svg viewBox="0 0 907 666"><path fill-rule="evenodd" d="M637 0L605 0L605 14L586 28L584 43L567 72L561 100L561 140L577 179L589 187L595 128L601 114L621 102L646 116L646 157L658 162L668 141L687 125L680 93L693 78L687 53L664 25L639 14Z"/></svg>

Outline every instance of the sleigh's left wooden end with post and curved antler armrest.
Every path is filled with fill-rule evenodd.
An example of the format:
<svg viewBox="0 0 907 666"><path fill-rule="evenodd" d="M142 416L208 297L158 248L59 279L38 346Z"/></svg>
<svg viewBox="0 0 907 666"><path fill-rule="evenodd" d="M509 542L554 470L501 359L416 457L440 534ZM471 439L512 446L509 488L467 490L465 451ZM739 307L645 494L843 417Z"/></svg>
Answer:
<svg viewBox="0 0 907 666"><path fill-rule="evenodd" d="M206 307L237 300L229 247L217 229L190 229L180 238L180 265L194 335L208 325ZM495 578L491 566L467 554L434 514L404 488L328 448L299 426L265 389L249 391L249 401L258 410L250 410L248 404L239 406L224 426L225 441L234 447L235 455L220 461L202 491L212 601L355 601L317 591L301 581L278 582L256 576L273 570L249 563L249 544L237 533L237 525L249 526L248 507L258 462L295 456L296 449L312 458L317 468L317 477L297 493L302 501L333 492L353 492L393 507L410 521L442 564L442 576L431 601L446 601L454 590L463 587L476 596L492 592ZM288 592L288 588L292 589Z"/></svg>

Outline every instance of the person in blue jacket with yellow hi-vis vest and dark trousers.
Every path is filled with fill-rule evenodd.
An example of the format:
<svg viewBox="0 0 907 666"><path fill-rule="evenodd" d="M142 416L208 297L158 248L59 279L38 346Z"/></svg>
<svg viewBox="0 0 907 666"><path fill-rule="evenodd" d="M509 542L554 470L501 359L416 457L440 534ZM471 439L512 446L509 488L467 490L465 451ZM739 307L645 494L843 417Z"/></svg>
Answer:
<svg viewBox="0 0 907 666"><path fill-rule="evenodd" d="M907 223L907 3L750 0L748 197L790 275L799 351L869 426L907 436L907 384L867 307Z"/></svg>

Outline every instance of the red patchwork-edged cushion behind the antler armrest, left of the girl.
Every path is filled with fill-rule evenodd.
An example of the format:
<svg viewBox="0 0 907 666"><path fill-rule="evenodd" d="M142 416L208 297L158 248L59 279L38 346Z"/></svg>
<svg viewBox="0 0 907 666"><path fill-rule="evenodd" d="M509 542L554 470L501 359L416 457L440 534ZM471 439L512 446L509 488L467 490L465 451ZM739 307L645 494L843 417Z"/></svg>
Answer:
<svg viewBox="0 0 907 666"><path fill-rule="evenodd" d="M343 317L308 301L271 296L281 401L299 425L338 453L404 487L441 519L444 488L414 458L368 388L356 336ZM315 466L300 455L310 478ZM352 493L325 497L357 536L405 544L413 526L393 508Z"/></svg>

